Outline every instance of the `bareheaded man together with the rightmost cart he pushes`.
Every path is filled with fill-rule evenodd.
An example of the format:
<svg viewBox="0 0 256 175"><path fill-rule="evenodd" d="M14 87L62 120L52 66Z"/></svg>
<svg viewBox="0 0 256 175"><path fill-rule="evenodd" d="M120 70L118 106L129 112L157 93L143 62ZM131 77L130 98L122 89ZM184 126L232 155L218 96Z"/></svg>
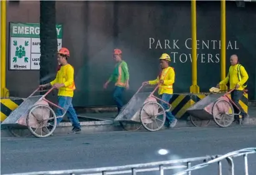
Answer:
<svg viewBox="0 0 256 175"><path fill-rule="evenodd" d="M230 64L227 77L210 89L211 94L187 109L195 127L206 127L212 119L220 127L229 127L234 121L241 125L247 117L239 100L247 92L245 87L249 76L244 66L239 64L237 55L230 56ZM224 84L229 86L229 91L220 91L219 87Z"/></svg>

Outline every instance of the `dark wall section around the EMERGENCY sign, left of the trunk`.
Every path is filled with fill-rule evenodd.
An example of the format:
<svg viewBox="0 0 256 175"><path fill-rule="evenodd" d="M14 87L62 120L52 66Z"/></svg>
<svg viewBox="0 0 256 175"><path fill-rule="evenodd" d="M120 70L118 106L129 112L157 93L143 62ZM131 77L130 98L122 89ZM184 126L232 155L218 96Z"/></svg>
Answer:
<svg viewBox="0 0 256 175"><path fill-rule="evenodd" d="M39 2L7 2L7 22L39 22ZM9 24L7 25L9 37ZM11 96L27 97L39 84L39 71L9 70L9 38L7 38L6 86Z"/></svg>

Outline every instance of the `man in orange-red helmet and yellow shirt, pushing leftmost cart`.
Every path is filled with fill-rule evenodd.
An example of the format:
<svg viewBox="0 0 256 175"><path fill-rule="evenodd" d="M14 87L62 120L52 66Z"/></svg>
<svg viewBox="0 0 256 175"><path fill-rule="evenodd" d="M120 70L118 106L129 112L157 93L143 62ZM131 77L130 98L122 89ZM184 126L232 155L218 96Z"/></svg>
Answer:
<svg viewBox="0 0 256 175"><path fill-rule="evenodd" d="M73 109L72 98L73 91L75 90L75 83L73 80L74 69L67 62L67 58L70 56L70 52L67 48L60 48L57 56L59 61L60 69L57 71L57 76L54 81L48 84L42 84L40 87L54 86L59 89L58 92L58 104L69 114L69 120L72 123L73 129L72 133L77 133L81 131L80 123L77 118L75 109ZM64 112L62 109L57 109L56 116L62 116ZM62 117L57 118L57 125L61 122ZM49 128L53 126L50 125Z"/></svg>

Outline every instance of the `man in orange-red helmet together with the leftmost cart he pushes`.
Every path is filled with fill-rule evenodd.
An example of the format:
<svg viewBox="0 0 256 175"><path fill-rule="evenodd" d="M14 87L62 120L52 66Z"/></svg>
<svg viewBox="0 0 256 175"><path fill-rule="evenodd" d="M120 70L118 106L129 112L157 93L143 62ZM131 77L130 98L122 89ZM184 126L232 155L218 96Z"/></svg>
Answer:
<svg viewBox="0 0 256 175"><path fill-rule="evenodd" d="M81 131L80 123L77 118L75 109L72 105L73 91L75 83L73 81L74 69L67 62L70 56L67 48L61 48L58 52L57 60L59 61L60 69L57 71L57 76L54 81L48 84L40 85L32 94L24 100L1 124L11 128L12 133L16 127L27 127L29 131L36 137L49 137L54 133L55 128L61 122L66 113L70 122L73 125L72 132ZM42 87L52 86L50 89L42 90ZM58 103L59 105L50 102L45 97L53 90L59 89ZM36 95L37 92L47 91L44 95ZM50 105L57 107L55 114ZM12 129L14 128L14 129ZM10 129L9 129L10 130Z"/></svg>

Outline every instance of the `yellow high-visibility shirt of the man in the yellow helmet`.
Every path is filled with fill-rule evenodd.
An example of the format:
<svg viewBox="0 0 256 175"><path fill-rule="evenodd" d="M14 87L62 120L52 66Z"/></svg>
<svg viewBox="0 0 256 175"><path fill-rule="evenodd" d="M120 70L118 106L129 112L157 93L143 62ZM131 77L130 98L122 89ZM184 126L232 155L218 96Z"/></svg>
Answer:
<svg viewBox="0 0 256 175"><path fill-rule="evenodd" d="M175 81L174 68L164 68L161 73L160 80L163 79L164 83L159 86L158 94L173 94L173 83ZM155 80L149 81L149 84L155 85L159 83L159 76Z"/></svg>

